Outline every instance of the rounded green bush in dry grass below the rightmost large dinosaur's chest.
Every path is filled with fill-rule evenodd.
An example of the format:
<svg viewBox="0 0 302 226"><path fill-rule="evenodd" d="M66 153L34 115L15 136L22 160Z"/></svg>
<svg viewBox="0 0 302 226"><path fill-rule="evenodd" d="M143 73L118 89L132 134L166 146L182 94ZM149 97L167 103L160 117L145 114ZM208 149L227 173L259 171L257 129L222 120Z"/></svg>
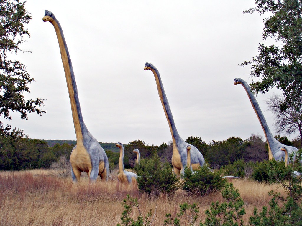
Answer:
<svg viewBox="0 0 302 226"><path fill-rule="evenodd" d="M275 160L265 160L263 162L256 162L252 173L252 179L258 182L277 183L274 175L271 175L271 169L275 169L275 172L279 175L283 175L285 172L285 163L277 162Z"/></svg>

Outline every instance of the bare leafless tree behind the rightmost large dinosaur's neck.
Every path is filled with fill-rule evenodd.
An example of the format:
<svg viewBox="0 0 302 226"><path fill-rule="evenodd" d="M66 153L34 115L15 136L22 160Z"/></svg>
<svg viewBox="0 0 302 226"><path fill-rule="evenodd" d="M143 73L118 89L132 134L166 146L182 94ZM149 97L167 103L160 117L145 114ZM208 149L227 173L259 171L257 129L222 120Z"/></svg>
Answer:
<svg viewBox="0 0 302 226"><path fill-rule="evenodd" d="M299 132L302 144L302 106L301 102L293 102L288 108L283 109L284 98L281 95L273 94L265 101L268 110L274 114L275 129L277 133L285 132L291 134Z"/></svg>

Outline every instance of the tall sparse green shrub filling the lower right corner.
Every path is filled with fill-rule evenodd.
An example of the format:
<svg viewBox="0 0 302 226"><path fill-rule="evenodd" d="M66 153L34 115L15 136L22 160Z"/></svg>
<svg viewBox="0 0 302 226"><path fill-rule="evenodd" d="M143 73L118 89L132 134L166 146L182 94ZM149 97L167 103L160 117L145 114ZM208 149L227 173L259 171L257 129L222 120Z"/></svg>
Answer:
<svg viewBox="0 0 302 226"><path fill-rule="evenodd" d="M285 195L280 192L270 191L273 196L269 202L269 207L263 206L262 211L254 209L254 215L249 218L251 226L301 226L302 225L302 177L297 176L297 172L302 172L302 149L289 156L290 163L280 172L280 163L271 161L272 167L269 169L269 177L278 181L280 187L284 189ZM278 164L277 164L278 163ZM285 165L284 162L281 162Z"/></svg>

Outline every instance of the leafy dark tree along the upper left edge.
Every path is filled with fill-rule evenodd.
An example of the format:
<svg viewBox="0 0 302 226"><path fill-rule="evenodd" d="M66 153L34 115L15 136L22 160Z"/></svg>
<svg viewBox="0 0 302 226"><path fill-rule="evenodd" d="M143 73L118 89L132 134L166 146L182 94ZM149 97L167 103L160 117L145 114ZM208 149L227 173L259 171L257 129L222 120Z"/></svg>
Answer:
<svg viewBox="0 0 302 226"><path fill-rule="evenodd" d="M24 8L25 2L0 0L0 116L9 120L10 111L18 111L22 119L27 119L27 113L45 113L39 108L43 99L24 99L24 92L29 92L28 84L34 81L24 64L8 59L8 55L22 51L19 45L24 42L24 36L30 38L30 33L23 27L31 20ZM4 127L0 121L2 133L9 134L9 129L9 125Z"/></svg>

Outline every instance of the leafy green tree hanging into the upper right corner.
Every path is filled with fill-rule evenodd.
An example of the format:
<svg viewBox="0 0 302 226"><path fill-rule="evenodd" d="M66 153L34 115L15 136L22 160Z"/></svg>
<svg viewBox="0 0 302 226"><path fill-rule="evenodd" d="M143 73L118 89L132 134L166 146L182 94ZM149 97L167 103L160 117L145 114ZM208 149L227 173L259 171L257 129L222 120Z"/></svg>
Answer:
<svg viewBox="0 0 302 226"><path fill-rule="evenodd" d="M276 45L259 43L259 54L241 66L250 65L250 75L260 81L250 86L255 93L265 93L276 86L283 90L282 108L301 102L302 93L302 2L298 0L255 0L256 6L245 14L268 13L263 19L263 39L271 38Z"/></svg>

